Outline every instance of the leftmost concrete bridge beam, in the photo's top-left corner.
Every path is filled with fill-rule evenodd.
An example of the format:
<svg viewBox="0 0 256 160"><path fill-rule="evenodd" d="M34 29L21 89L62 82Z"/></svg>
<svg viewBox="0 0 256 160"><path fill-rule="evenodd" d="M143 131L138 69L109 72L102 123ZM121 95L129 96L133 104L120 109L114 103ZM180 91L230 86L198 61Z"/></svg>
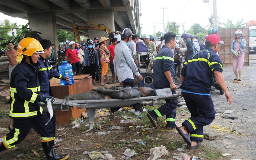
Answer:
<svg viewBox="0 0 256 160"><path fill-rule="evenodd" d="M25 13L30 12L30 5L20 0L1 0L0 5L5 5Z"/></svg>

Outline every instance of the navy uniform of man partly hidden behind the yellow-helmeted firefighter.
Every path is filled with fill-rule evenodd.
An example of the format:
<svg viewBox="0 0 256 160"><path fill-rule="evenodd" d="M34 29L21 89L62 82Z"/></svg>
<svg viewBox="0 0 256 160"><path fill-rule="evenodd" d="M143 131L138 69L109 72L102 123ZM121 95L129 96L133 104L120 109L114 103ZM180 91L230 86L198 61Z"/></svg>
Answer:
<svg viewBox="0 0 256 160"><path fill-rule="evenodd" d="M40 64L39 66L37 66L36 68L39 70L39 81L41 82L41 91L40 91L40 95L43 96L52 96L53 97L53 93L51 91L51 86L50 86L50 79L52 77L57 78L57 79L62 79L62 80L66 80L67 77L65 75L61 75L59 74L57 71L55 71L53 69L53 67L51 67L48 58L45 60L45 58L43 58L41 55L39 55L39 59L38 59L38 63ZM43 62L45 61L45 62ZM51 123L53 123L53 127L54 127L54 135L55 135L55 126L56 126L56 114L55 112L53 112L53 117L51 118ZM50 114L48 111L46 111L47 116L50 118Z"/></svg>

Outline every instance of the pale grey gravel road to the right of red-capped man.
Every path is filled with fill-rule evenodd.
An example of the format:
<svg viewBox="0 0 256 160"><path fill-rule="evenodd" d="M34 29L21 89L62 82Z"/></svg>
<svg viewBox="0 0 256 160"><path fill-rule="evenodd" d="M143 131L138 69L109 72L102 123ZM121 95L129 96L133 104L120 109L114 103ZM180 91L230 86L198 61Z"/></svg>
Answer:
<svg viewBox="0 0 256 160"><path fill-rule="evenodd" d="M255 59L256 54L250 54L250 59ZM220 95L219 91L211 91L211 96L215 105L216 116L211 123L213 125L221 125L221 127L230 127L238 133L246 134L241 137L234 133L223 131L218 133L209 126L204 127L205 133L210 136L218 135L217 139L212 141L204 141L207 146L215 147L223 153L231 155L231 159L256 159L256 60L250 60L250 66L243 66L242 83L233 83L235 75L232 67L225 67L223 75L226 85L233 97L233 103L229 105L226 101L225 94ZM246 108L246 109L243 109ZM238 117L238 119L222 118L225 110L234 110L230 113L230 117ZM227 145L234 145L235 149L227 149Z"/></svg>

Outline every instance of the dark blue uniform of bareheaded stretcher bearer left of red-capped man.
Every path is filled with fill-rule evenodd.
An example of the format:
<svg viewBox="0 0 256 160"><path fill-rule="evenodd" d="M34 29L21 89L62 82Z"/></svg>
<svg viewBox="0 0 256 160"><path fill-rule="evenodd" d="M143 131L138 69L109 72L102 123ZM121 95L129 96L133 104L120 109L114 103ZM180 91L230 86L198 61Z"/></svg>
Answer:
<svg viewBox="0 0 256 160"><path fill-rule="evenodd" d="M170 50L169 47L163 46L161 50L159 50L158 54L155 56L154 59L154 87L156 89L162 89L162 88L170 88L170 83L168 79L165 76L166 71L171 72L171 78L174 81L174 59L173 59L173 53ZM173 94L176 94L176 91L172 91ZM176 127L175 124L175 117L176 117L176 108L178 107L178 99L166 99L166 104L162 105L158 109L149 111L148 113L155 119L157 117L162 117L163 115L166 115L166 121L168 127Z"/></svg>

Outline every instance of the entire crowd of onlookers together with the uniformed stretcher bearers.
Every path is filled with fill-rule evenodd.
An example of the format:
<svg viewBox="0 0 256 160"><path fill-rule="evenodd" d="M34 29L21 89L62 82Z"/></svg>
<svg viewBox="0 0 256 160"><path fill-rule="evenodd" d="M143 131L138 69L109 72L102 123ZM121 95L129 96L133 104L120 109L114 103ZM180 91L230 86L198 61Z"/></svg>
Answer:
<svg viewBox="0 0 256 160"><path fill-rule="evenodd" d="M87 73L96 80L101 81L101 86L110 82L107 76L110 67L113 81L119 80L124 87L135 86L134 77L143 80L136 64L137 42L145 42L145 46L151 49L154 55L154 87L156 89L170 88L172 94L176 94L175 77L181 79L181 94L191 112L191 117L182 123L182 127L175 124L178 99L166 99L166 104L147 113L153 127L157 128L157 118L166 115L166 129L177 129L188 148L195 148L203 141L203 126L210 124L215 118L213 101L210 96L213 77L219 86L225 91L229 104L232 96L227 89L222 74L223 64L219 57L219 47L224 45L220 40L218 29L209 30L205 36L205 45L197 40L197 37L184 33L182 40L176 43L176 35L172 32L154 42L149 35L139 38L129 28L117 32L111 39L110 45L106 43L109 38L97 37L87 40L87 43L79 45L74 41L69 42L69 48L65 50L65 59L69 57L74 74L78 74L80 65L86 66ZM233 70L236 78L234 82L241 83L242 64L244 59L245 39L242 39L242 31L235 32L235 40L232 41L231 52L233 54ZM80 48L79 48L80 47ZM52 69L49 59L54 59L54 44L49 40L40 42L33 38L22 39L14 49L12 42L8 43L6 52L9 59L10 74L10 117L13 124L8 126L10 132L0 142L0 152L15 147L23 141L29 130L33 127L41 135L43 151L47 159L67 159L68 154L55 153L55 113L50 118L40 106L40 102L54 103L51 93L50 77L69 81L69 77L59 74ZM185 57L185 62L179 62L179 58ZM183 64L183 68L181 68ZM176 69L178 68L178 73ZM176 75L175 75L176 74ZM105 81L104 81L105 79ZM40 83L39 83L40 82ZM25 106L25 107L24 107ZM133 104L135 111L141 112L140 103ZM119 108L109 109L112 117Z"/></svg>

